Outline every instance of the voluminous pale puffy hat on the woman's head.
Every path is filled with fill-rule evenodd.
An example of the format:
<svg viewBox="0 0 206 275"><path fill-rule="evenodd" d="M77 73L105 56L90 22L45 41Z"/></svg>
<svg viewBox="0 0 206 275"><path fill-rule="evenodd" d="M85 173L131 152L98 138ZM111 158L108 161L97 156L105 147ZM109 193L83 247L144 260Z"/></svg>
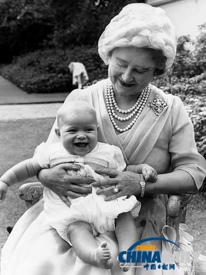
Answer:
<svg viewBox="0 0 206 275"><path fill-rule="evenodd" d="M125 6L105 28L99 39L99 54L105 64L117 47L137 47L149 50L156 75L172 66L177 40L175 29L165 11L144 3Z"/></svg>

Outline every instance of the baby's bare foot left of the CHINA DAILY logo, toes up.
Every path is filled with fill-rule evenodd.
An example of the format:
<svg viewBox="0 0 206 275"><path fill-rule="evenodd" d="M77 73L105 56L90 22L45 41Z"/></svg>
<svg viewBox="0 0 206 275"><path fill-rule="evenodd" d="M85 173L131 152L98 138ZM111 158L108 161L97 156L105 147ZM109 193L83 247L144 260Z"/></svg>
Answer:
<svg viewBox="0 0 206 275"><path fill-rule="evenodd" d="M106 242L102 242L95 252L95 262L104 269L112 268L111 252Z"/></svg>

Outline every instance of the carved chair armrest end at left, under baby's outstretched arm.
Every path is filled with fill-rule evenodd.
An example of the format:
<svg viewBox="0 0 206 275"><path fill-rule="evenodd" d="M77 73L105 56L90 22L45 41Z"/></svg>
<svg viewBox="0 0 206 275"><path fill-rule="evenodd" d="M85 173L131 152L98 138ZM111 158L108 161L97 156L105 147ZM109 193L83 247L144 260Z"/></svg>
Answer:
<svg viewBox="0 0 206 275"><path fill-rule="evenodd" d="M26 210L43 197L44 188L40 182L29 182L20 186L18 195L25 200Z"/></svg>

